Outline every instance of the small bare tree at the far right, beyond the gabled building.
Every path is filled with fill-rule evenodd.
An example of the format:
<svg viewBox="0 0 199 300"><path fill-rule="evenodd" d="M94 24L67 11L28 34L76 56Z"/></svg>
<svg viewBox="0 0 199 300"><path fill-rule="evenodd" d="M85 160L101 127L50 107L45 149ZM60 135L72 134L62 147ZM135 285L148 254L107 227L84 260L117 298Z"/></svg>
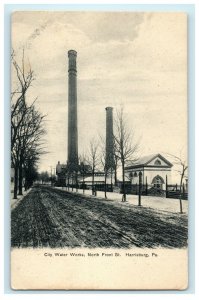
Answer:
<svg viewBox="0 0 199 300"><path fill-rule="evenodd" d="M188 171L188 163L187 159L185 157L182 157L183 155L176 156L170 153L167 153L172 158L173 164L177 166L176 172L180 175L180 196L179 196L179 202L180 202L180 213L183 213L182 209L182 191L183 191L183 180L187 177L187 171Z"/></svg>

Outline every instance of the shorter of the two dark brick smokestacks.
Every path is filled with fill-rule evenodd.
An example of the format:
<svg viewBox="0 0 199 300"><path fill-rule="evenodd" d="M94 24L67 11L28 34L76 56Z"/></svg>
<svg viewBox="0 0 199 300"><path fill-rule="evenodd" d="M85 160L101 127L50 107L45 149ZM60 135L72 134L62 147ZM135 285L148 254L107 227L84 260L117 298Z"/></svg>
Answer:
<svg viewBox="0 0 199 300"><path fill-rule="evenodd" d="M113 108L106 107L106 168L114 167Z"/></svg>

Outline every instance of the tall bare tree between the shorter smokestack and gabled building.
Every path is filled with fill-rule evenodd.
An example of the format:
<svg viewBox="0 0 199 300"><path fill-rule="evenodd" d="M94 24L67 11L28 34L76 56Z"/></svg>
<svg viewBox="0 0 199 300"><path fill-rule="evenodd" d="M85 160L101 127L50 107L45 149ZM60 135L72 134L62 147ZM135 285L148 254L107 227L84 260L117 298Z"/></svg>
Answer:
<svg viewBox="0 0 199 300"><path fill-rule="evenodd" d="M138 159L139 142L135 139L135 132L128 128L124 115L124 108L116 111L115 119L115 155L122 166L122 201L126 201L125 165L128 160L136 162Z"/></svg>

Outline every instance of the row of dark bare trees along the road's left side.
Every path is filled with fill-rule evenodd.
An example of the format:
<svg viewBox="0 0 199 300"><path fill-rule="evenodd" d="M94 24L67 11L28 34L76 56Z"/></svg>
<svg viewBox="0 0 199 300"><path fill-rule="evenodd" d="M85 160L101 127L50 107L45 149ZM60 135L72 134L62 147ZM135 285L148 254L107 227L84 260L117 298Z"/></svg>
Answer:
<svg viewBox="0 0 199 300"><path fill-rule="evenodd" d="M36 108L36 99L30 103L28 91L35 80L24 51L18 63L12 53L11 92L11 166L14 169L14 198L22 195L23 184L28 189L37 177L37 162L44 153L44 115ZM24 182L25 181L25 182Z"/></svg>

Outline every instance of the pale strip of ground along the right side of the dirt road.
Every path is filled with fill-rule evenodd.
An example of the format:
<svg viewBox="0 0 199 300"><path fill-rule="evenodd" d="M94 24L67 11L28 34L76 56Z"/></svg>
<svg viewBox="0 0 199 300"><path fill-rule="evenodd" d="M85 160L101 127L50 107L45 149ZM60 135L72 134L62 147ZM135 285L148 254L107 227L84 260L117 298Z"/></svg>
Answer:
<svg viewBox="0 0 199 300"><path fill-rule="evenodd" d="M66 187L56 187L60 190L67 190ZM70 192L72 189L70 188ZM76 189L73 189L73 193L76 193ZM83 190L78 189L79 194L83 194ZM92 196L91 190L85 190L85 195ZM97 198L104 199L104 192L97 191ZM107 201L114 200L121 203L121 205L138 205L138 195L127 195L127 202L121 202L122 194L119 193L110 193L107 192ZM150 207L153 209L158 209L161 211L167 212L179 212L180 211L180 201L179 199L163 198L163 197L154 197L154 196L142 196L141 205L145 207ZM184 213L188 213L188 201L182 200L182 208Z"/></svg>

